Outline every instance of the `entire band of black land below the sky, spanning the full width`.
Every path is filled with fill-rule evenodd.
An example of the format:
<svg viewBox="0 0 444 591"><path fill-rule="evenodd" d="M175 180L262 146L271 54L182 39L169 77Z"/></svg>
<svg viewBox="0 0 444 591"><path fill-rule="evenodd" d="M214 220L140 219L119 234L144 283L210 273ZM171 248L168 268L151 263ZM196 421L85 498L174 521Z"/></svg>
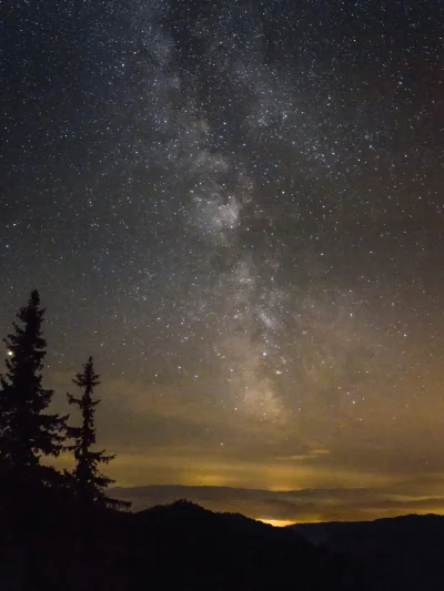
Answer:
<svg viewBox="0 0 444 591"><path fill-rule="evenodd" d="M30 509L20 518L3 512L0 589L444 589L441 519L434 517L433 526L430 518L389 522L387 528L397 532L390 542L384 527L375 531L369 524L332 524L329 538L317 524L278 529L184 501L139 513L88 517L68 507L38 513ZM434 541L425 544L428 524ZM370 531L372 541L366 544ZM398 544L393 552L392 544Z"/></svg>

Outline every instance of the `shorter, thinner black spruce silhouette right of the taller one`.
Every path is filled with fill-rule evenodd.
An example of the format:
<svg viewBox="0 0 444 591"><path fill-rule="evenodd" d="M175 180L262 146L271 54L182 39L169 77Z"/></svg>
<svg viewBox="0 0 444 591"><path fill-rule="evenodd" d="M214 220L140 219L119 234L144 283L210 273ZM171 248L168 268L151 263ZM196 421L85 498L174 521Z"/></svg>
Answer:
<svg viewBox="0 0 444 591"><path fill-rule="evenodd" d="M83 371L77 374L72 380L75 386L83 389L81 398L74 398L68 394L70 405L79 407L82 425L81 427L69 427L68 435L74 439L74 445L70 446L74 452L75 468L72 477L75 493L83 506L101 505L109 508L129 508L131 503L110 499L105 496L104 490L109 485L114 482L111 478L103 476L99 471L100 463L109 463L115 456L107 456L104 450L92 451L91 447L95 445L95 407L100 400L92 398L93 390L99 386L100 376L94 371L92 357L83 365Z"/></svg>

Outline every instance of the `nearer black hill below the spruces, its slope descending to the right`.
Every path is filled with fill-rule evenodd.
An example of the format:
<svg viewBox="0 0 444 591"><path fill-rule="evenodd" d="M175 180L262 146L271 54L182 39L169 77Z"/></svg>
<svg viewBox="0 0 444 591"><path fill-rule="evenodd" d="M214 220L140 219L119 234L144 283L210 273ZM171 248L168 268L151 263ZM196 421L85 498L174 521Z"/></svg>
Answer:
<svg viewBox="0 0 444 591"><path fill-rule="evenodd" d="M2 528L0 589L352 591L364 578L294 531L190 502L79 517L67 507L20 532Z"/></svg>

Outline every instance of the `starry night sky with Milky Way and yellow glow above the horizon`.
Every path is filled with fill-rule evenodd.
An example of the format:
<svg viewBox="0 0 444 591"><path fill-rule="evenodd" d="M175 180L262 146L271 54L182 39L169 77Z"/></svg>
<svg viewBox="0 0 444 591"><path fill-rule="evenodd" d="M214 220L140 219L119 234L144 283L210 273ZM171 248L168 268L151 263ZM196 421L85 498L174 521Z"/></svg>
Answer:
<svg viewBox="0 0 444 591"><path fill-rule="evenodd" d="M63 410L94 356L120 487L276 522L444 512L443 22L4 3L0 332L37 287Z"/></svg>

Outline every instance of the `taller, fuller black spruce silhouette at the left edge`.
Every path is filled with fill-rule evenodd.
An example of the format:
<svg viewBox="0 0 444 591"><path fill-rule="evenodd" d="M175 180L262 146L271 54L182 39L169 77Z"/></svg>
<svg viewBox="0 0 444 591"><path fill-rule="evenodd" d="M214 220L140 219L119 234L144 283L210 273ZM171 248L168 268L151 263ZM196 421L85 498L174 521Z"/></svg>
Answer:
<svg viewBox="0 0 444 591"><path fill-rule="evenodd" d="M58 456L63 449L68 416L44 412L53 390L42 387L47 342L42 337L44 309L37 291L17 317L22 326L13 323L14 332L3 339L8 354L6 375L0 375L0 462L3 471L27 485L42 485L57 471L40 466L40 459Z"/></svg>

